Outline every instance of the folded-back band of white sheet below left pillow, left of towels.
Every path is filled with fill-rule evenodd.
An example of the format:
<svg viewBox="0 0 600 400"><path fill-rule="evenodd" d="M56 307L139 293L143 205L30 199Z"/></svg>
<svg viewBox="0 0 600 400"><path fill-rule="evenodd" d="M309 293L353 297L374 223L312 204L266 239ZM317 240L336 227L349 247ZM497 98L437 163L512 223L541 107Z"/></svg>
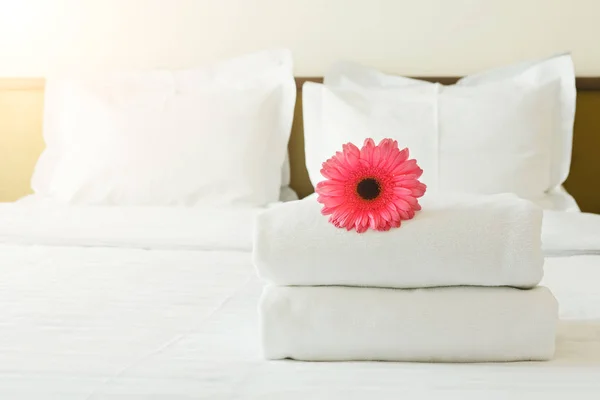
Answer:
<svg viewBox="0 0 600 400"><path fill-rule="evenodd" d="M0 243L249 251L262 210L0 203Z"/></svg>

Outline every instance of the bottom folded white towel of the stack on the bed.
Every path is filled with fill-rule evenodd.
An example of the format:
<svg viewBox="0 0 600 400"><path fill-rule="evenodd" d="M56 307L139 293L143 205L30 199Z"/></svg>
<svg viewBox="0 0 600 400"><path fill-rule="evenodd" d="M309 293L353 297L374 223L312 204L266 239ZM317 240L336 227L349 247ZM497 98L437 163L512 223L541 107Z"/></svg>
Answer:
<svg viewBox="0 0 600 400"><path fill-rule="evenodd" d="M545 287L267 286L264 355L305 361L548 360L558 304Z"/></svg>

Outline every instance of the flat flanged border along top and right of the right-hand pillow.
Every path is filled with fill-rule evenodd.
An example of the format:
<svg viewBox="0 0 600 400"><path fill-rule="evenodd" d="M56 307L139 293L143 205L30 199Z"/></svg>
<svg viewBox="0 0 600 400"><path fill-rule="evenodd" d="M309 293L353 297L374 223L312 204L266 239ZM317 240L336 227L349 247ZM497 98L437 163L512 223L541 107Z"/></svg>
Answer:
<svg viewBox="0 0 600 400"><path fill-rule="evenodd" d="M457 87L481 87L491 83L519 83L539 87L558 80L559 90L554 96L556 111L553 114L551 140L551 163L547 196L537 199L544 206L572 210L574 199L561 187L569 174L575 118L575 71L569 54L561 54L539 61L523 62L492 69L462 78ZM429 82L388 75L372 68L354 63L340 62L325 75L328 86L339 88L401 88L407 86L431 86Z"/></svg>

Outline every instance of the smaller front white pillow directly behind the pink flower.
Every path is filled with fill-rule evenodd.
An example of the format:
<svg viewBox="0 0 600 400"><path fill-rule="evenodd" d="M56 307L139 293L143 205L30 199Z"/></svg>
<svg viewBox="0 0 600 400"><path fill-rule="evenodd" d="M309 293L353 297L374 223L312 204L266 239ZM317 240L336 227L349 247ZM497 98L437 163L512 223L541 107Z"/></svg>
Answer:
<svg viewBox="0 0 600 400"><path fill-rule="evenodd" d="M391 137L409 147L423 169L422 180L437 180L436 86L403 90L336 89L307 82L302 88L306 167L314 186L321 166L342 144L362 146Z"/></svg>

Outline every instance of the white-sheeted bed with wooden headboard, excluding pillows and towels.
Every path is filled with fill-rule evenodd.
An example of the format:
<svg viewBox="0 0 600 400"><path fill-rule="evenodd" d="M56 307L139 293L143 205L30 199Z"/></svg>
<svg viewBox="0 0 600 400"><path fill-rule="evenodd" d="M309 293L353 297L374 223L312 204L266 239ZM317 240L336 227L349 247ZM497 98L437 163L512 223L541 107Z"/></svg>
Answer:
<svg viewBox="0 0 600 400"><path fill-rule="evenodd" d="M297 79L289 154L300 197L312 192L305 80ZM598 82L577 81L565 183L587 212L600 212ZM43 90L41 79L0 80L0 201L30 193L44 148ZM263 282L250 253L260 211L60 206L35 196L0 204L0 398L598 398L599 216L545 213L542 284L558 299L561 317L553 361L309 363L261 355Z"/></svg>

